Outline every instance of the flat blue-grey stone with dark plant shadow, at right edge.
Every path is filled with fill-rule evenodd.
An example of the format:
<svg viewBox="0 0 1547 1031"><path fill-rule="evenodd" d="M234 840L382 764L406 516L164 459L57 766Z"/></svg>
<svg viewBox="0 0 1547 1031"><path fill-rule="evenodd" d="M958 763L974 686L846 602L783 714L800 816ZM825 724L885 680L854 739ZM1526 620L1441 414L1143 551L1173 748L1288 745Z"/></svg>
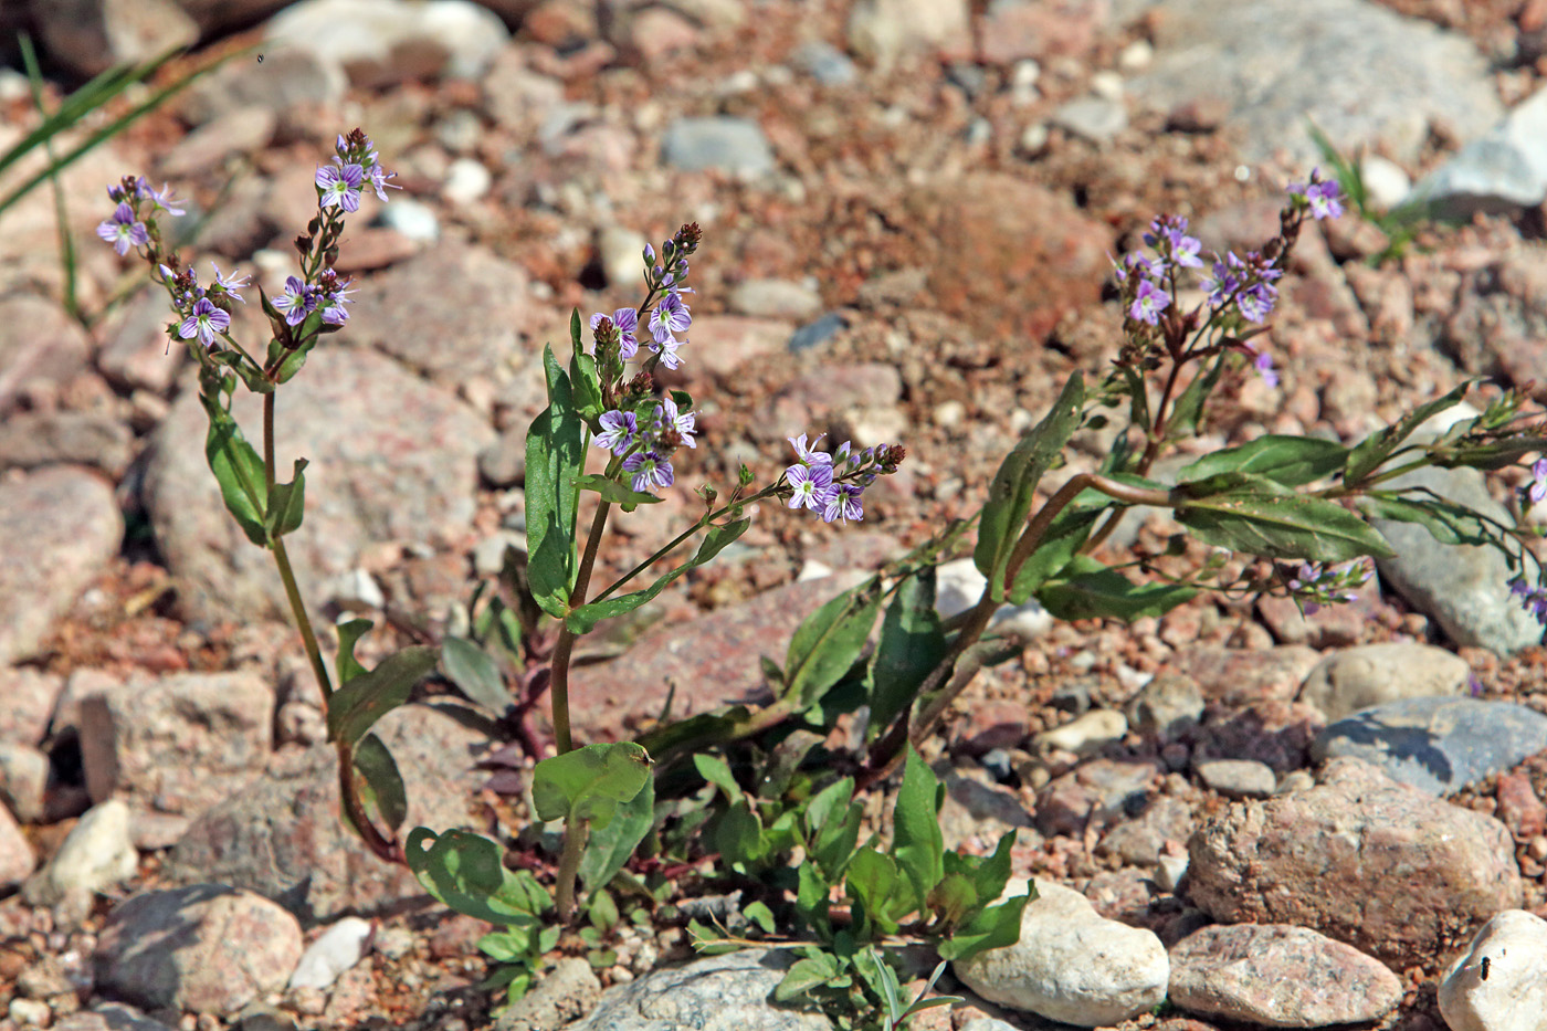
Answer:
<svg viewBox="0 0 1547 1031"><path fill-rule="evenodd" d="M1429 794L1451 794L1547 748L1547 715L1510 701L1408 698L1329 724L1313 762L1352 755Z"/></svg>

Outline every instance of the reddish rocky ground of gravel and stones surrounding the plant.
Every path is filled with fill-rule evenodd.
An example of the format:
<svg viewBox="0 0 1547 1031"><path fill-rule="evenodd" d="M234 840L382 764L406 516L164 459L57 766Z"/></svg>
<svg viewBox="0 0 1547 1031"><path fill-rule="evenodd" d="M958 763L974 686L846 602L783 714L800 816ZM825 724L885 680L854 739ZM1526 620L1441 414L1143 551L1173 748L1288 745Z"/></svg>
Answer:
<svg viewBox="0 0 1547 1031"><path fill-rule="evenodd" d="M772 475L800 432L907 444L863 523L769 506L661 627L599 646L631 644L577 670L591 738L637 729L668 686L678 712L756 692L758 656L846 576L970 516L1067 373L1115 353L1108 255L1157 212L1205 248L1259 243L1318 161L1307 118L1361 158L1377 211L1419 183L1457 224L1395 254L1355 215L1307 229L1269 337L1281 384L1227 382L1193 450L1264 427L1357 440L1467 376L1547 399L1538 0L79 6L131 11L139 36L0 5L42 40L51 99L136 39L200 40L169 79L232 56L63 176L80 319L53 200L0 215L0 1026L492 1020L487 927L337 825L320 700L213 494L164 299L94 237L124 173L189 198L201 271L277 293L334 133L364 127L399 172L351 223L353 319L286 387L278 433L312 460L303 591L385 624L371 647L466 625L523 540L541 345L572 307L637 300L640 248L682 221L705 240L678 381L704 446L681 483ZM5 147L34 118L19 74L0 96ZM254 339L261 319L238 324ZM1077 438L1071 468L1108 443ZM1521 481L1433 486L1507 505ZM608 568L692 509L684 489L619 520ZM1171 529L1135 520L1111 546ZM948 844L1016 830L1044 904L1023 952L953 972L968 1003L927 1026L1425 1031L1442 983L1482 1008L1454 1031L1536 1026L1541 629L1491 554L1397 533L1355 602L1309 619L1216 599L1132 625L1026 616L1032 642L930 759ZM487 718L430 689L385 726L413 824L520 830L521 760ZM589 1026L826 1026L763 1005L778 974L756 955L682 972L681 929L630 933L599 978L562 964L501 1026L558 1026L603 986Z"/></svg>

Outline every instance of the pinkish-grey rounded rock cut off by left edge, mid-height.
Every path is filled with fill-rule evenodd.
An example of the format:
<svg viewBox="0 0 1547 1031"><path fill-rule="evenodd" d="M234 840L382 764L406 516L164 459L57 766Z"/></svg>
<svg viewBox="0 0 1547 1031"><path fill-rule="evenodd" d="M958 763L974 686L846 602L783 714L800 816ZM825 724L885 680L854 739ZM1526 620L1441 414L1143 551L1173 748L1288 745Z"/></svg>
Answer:
<svg viewBox="0 0 1547 1031"><path fill-rule="evenodd" d="M0 481L0 540L6 542L0 666L37 652L54 619L101 574L122 539L113 488L91 472L50 466Z"/></svg>

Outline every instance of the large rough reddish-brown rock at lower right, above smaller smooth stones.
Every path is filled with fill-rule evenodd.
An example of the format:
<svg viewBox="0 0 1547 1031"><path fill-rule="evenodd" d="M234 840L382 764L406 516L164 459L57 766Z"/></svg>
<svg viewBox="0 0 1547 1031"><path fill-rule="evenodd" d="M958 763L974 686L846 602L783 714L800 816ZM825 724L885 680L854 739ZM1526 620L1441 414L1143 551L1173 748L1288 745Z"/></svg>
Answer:
<svg viewBox="0 0 1547 1031"><path fill-rule="evenodd" d="M1398 969L1521 899L1504 824L1357 759L1327 763L1315 788L1231 805L1188 856L1187 895L1214 920L1310 927Z"/></svg>

